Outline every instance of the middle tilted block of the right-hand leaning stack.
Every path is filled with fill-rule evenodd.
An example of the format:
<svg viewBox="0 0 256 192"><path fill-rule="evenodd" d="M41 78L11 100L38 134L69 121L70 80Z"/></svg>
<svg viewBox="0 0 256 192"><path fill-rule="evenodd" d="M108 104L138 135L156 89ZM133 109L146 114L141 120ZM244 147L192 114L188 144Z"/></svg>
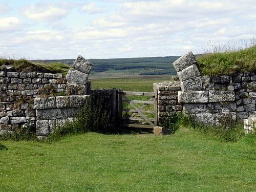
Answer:
<svg viewBox="0 0 256 192"><path fill-rule="evenodd" d="M180 81L185 81L188 79L200 77L200 75L201 75L196 64L193 64L193 65L179 71L177 74L178 74Z"/></svg>

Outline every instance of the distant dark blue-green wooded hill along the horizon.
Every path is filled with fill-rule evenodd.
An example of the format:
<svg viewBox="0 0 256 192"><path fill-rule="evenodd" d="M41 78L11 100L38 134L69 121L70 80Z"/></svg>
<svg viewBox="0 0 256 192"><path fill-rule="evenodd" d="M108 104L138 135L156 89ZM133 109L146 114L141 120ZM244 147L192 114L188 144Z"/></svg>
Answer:
<svg viewBox="0 0 256 192"><path fill-rule="evenodd" d="M176 75L172 63L179 56L167 57L138 57L138 58L116 58L116 59L89 59L93 64L93 72L100 73L108 70L140 70L139 75ZM53 59L53 60L32 60L33 62L64 63L73 65L75 59Z"/></svg>

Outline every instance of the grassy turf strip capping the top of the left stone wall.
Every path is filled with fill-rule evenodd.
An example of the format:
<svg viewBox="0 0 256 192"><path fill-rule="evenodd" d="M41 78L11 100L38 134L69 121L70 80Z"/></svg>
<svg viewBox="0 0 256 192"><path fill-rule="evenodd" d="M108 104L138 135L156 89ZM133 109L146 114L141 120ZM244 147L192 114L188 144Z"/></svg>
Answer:
<svg viewBox="0 0 256 192"><path fill-rule="evenodd" d="M26 59L2 59L0 66L13 66L17 71L24 72L47 72L47 73L68 73L70 66L62 63L33 63Z"/></svg>

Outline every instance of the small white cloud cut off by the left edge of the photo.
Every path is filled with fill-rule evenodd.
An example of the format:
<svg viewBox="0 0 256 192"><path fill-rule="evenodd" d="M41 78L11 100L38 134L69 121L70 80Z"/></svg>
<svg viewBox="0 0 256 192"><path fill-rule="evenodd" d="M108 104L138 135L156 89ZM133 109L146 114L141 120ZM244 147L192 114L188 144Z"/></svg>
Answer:
<svg viewBox="0 0 256 192"><path fill-rule="evenodd" d="M0 32L17 31L22 28L22 21L17 17L0 17Z"/></svg>

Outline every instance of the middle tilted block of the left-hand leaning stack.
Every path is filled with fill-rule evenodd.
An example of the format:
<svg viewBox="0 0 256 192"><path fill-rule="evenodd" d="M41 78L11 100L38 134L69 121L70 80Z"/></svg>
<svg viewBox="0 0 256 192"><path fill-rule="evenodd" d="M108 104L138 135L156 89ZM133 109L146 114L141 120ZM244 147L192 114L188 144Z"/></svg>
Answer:
<svg viewBox="0 0 256 192"><path fill-rule="evenodd" d="M70 69L66 78L69 82L76 82L80 84L86 84L88 81L89 75L83 72L80 72L76 69Z"/></svg>

